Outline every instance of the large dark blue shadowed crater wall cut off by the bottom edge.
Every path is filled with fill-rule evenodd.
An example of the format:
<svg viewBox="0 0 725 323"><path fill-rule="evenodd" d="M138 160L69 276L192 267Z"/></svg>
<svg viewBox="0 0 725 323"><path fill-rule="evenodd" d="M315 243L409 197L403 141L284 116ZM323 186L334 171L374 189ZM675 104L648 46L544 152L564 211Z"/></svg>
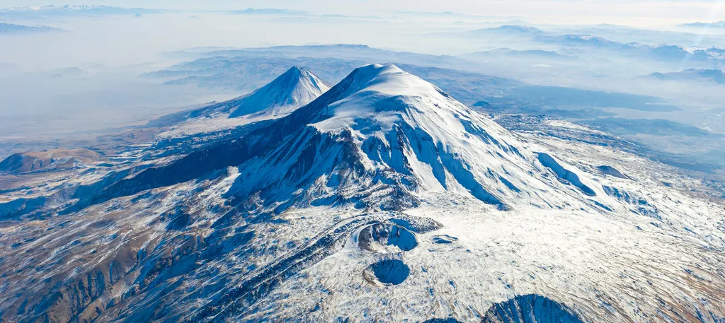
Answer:
<svg viewBox="0 0 725 323"><path fill-rule="evenodd" d="M482 323L584 323L566 306L541 295L520 295L495 303Z"/></svg>

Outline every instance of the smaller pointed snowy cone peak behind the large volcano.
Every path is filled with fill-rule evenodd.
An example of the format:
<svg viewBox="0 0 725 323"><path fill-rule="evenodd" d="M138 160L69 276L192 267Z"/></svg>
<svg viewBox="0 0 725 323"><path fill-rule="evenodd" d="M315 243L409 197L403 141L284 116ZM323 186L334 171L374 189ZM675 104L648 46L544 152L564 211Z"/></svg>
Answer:
<svg viewBox="0 0 725 323"><path fill-rule="evenodd" d="M282 117L310 103L330 88L331 85L309 70L294 66L262 88L232 100L233 112L229 117L249 114Z"/></svg>

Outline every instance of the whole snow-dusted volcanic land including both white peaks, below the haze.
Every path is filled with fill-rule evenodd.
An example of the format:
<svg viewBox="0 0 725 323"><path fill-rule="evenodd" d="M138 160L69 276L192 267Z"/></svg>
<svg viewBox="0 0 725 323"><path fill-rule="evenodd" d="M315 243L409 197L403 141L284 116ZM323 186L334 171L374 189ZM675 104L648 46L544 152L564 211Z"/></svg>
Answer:
<svg viewBox="0 0 725 323"><path fill-rule="evenodd" d="M0 322L725 322L724 201L597 130L392 64L152 124L0 163Z"/></svg>

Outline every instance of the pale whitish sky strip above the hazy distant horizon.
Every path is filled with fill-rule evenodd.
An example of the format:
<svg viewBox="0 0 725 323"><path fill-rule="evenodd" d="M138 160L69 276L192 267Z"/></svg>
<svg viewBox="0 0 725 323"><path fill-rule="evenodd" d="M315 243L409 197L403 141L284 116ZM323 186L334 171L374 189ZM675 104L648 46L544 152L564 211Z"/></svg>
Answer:
<svg viewBox="0 0 725 323"><path fill-rule="evenodd" d="M0 0L0 7L63 4L43 0ZM165 9L304 9L318 13L374 14L376 12L423 11L467 14L513 15L541 18L542 22L583 23L592 21L630 25L666 25L689 20L725 20L723 0L75 0L69 4L105 4L119 7Z"/></svg>

